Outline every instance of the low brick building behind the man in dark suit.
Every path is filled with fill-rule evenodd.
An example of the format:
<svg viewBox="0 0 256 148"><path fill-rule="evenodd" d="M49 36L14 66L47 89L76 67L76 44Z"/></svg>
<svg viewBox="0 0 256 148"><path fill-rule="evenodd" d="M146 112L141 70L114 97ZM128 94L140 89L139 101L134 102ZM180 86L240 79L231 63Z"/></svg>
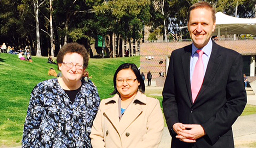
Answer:
<svg viewBox="0 0 256 148"><path fill-rule="evenodd" d="M217 44L233 49L243 56L244 73L247 76L255 76L255 56L256 56L256 39L250 40L225 40L215 41ZM140 72L147 74L150 70L152 80L159 77L162 70L164 75L167 74L171 52L175 49L184 47L192 42L165 42L165 43L141 43L140 45Z"/></svg>

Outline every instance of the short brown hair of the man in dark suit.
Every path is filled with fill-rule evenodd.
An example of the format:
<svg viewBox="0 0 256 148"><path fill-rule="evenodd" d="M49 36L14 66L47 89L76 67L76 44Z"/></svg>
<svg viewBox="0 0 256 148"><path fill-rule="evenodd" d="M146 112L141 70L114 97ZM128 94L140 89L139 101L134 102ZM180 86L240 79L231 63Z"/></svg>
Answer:
<svg viewBox="0 0 256 148"><path fill-rule="evenodd" d="M213 18L213 22L215 23L215 21L216 21L215 8L213 6L211 6L208 2L205 2L205 1L197 2L197 3L193 4L192 6L190 6L190 8L188 9L188 13L187 13L187 22L189 22L189 19L190 19L190 12L192 10L198 9L198 8L206 8L206 9L210 10L211 17Z"/></svg>

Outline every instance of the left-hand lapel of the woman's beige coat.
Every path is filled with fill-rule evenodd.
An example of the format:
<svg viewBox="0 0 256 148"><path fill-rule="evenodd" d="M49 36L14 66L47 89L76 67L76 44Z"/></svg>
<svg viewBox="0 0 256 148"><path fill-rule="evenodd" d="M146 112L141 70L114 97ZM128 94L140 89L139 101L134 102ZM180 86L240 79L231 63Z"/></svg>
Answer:
<svg viewBox="0 0 256 148"><path fill-rule="evenodd" d="M109 104L105 109L104 113L109 122L114 126L114 128L119 131L119 117L118 117L118 98L119 95L116 94L112 100L106 102L105 104Z"/></svg>

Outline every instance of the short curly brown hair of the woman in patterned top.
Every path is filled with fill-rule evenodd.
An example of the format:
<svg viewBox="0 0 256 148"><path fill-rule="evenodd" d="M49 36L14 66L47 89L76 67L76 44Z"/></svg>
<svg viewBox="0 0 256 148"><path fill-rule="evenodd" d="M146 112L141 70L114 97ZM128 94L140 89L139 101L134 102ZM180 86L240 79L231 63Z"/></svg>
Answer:
<svg viewBox="0 0 256 148"><path fill-rule="evenodd" d="M68 53L77 53L83 57L83 68L87 68L89 62L89 55L85 47L78 43L67 43L60 50L57 55L57 63L63 62L63 57Z"/></svg>

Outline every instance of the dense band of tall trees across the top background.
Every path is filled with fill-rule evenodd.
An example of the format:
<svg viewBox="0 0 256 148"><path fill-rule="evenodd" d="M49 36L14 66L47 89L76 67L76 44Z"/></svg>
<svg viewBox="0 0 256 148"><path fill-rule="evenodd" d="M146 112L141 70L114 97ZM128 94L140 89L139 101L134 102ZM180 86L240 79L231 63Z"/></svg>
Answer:
<svg viewBox="0 0 256 148"><path fill-rule="evenodd" d="M255 18L256 0L206 1L216 12ZM158 35L190 38L180 27L187 25L188 8L195 2L198 0L1 0L0 44L16 48L29 45L33 55L40 50L42 56L48 56L51 50L57 55L66 42L78 42L89 49L98 35L110 37L113 44L115 34L117 44L128 42L131 53L131 40L140 41L145 26L151 27L149 40ZM117 56L122 52L118 47Z"/></svg>

